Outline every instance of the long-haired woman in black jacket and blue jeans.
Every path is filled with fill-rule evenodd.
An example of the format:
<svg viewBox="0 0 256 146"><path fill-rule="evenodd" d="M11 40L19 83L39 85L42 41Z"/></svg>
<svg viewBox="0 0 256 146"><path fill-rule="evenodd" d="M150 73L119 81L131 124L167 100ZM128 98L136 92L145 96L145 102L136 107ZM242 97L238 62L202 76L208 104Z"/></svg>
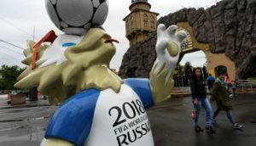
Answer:
<svg viewBox="0 0 256 146"><path fill-rule="evenodd" d="M206 110L206 130L207 132L214 133L212 128L212 106L207 98L206 84L202 77L201 68L193 70L192 80L190 82L192 101L195 107L195 132L203 132L199 126L199 115L201 106Z"/></svg>

